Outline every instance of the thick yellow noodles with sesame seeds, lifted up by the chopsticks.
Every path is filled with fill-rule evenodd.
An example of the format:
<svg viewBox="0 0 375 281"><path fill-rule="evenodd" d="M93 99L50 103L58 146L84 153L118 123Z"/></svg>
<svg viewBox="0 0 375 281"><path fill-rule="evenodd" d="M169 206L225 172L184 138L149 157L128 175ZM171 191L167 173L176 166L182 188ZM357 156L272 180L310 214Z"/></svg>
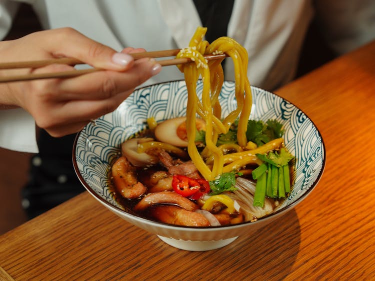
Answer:
<svg viewBox="0 0 375 281"><path fill-rule="evenodd" d="M186 131L187 151L201 175L208 181L213 180L223 172L224 156L216 146L219 134L227 133L232 123L238 118L237 142L245 147L247 144L247 121L251 112L251 90L247 79L247 52L235 40L220 37L211 44L203 40L207 28L198 27L192 36L188 48L181 49L177 58L190 58L194 63L178 65L184 73L187 87ZM221 60L207 62L204 54L225 53L234 64L235 98L237 108L221 121L221 106L218 96L223 84L224 75ZM196 94L196 82L201 77L203 89L201 100ZM195 145L195 118L199 115L206 124L205 143L206 153L212 155L212 166L203 161Z"/></svg>

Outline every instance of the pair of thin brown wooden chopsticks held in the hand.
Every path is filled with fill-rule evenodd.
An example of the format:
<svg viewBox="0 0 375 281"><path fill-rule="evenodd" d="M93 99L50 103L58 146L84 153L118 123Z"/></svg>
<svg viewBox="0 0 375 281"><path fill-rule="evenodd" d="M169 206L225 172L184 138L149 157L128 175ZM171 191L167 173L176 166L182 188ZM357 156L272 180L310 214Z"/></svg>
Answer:
<svg viewBox="0 0 375 281"><path fill-rule="evenodd" d="M132 53L134 60L140 59L143 57L149 58L159 58L159 57L168 57L175 56L180 49L171 49L171 50L160 50L160 51L151 51L151 52L141 52L141 53ZM205 55L207 60L212 59L222 59L225 58L225 54L216 54L216 55ZM172 58L158 60L161 66L176 65L191 62L189 58ZM43 67L49 64L82 64L83 62L75 58L54 58L54 59L45 59L45 60L33 60L33 61L19 61L19 62L4 62L0 63L0 69L15 69L15 68L37 68ZM46 79L46 78L68 78L75 77L86 73L91 73L95 71L103 70L101 68L88 68L80 70L71 70L71 71L61 71L61 72L52 72L52 73L30 73L24 75L15 75L15 76L2 76L0 77L0 82L15 82L15 81L25 81L25 80L35 80L35 79Z"/></svg>

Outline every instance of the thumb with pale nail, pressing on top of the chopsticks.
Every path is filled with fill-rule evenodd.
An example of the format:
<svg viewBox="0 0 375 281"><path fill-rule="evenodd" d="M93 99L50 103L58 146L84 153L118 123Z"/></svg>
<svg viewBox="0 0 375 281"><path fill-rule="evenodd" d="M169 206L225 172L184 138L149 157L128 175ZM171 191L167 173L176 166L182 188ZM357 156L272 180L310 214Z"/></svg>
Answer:
<svg viewBox="0 0 375 281"><path fill-rule="evenodd" d="M53 56L74 57L98 68L124 71L129 69L134 61L131 55L116 52L68 27L46 30L42 40L44 48Z"/></svg>

